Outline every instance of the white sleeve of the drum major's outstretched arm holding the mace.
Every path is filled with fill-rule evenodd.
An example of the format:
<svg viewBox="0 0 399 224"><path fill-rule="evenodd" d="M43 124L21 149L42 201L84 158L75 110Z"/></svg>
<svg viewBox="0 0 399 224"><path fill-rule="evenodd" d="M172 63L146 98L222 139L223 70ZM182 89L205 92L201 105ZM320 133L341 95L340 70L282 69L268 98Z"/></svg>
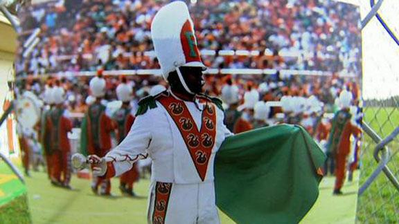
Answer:
<svg viewBox="0 0 399 224"><path fill-rule="evenodd" d="M105 160L114 165L115 175L119 176L132 169L136 160L147 158L152 140L151 119L148 114L137 116L126 138L105 155Z"/></svg>

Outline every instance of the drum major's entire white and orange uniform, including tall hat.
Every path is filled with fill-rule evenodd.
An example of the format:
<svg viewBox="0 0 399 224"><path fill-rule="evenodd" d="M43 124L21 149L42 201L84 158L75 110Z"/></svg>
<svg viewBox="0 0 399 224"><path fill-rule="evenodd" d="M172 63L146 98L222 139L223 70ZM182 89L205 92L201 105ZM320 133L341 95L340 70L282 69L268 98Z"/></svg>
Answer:
<svg viewBox="0 0 399 224"><path fill-rule="evenodd" d="M167 80L170 72L177 71L179 80L187 90L179 66L205 66L199 57L193 21L186 3L175 1L161 8L152 21L151 32L163 77ZM121 175L131 169L134 161L150 156L152 183L148 223L220 223L215 205L213 162L222 142L231 135L223 123L222 109L206 97L197 97L196 102L188 102L180 100L171 91L164 91L152 99L157 106L153 105L145 113L138 114L126 138L105 156L126 158L123 162L109 162L107 174L111 172L112 176ZM177 127L178 121L174 120L176 117L172 118L172 109L167 109L172 103L167 101L170 104L165 104L161 102L162 99L179 104L180 109L185 111L183 115L188 120L190 116L193 119L191 129L186 129L185 135L183 126ZM213 131L208 129L209 120L212 121ZM204 137L207 135L205 129L211 133L212 144L204 144L208 139ZM190 143L186 141L191 133L197 137L191 139L196 140L195 149L190 148L192 146L189 147Z"/></svg>

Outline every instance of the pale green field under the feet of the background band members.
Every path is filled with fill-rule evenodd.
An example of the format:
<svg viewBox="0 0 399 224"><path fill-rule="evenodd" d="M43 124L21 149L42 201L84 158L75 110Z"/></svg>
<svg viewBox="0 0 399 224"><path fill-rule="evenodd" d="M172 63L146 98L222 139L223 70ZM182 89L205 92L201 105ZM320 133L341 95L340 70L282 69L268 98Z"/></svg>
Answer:
<svg viewBox="0 0 399 224"><path fill-rule="evenodd" d="M357 180L357 175L356 180ZM118 179L112 182L116 196L94 196L89 181L75 178L74 190L53 187L44 172L33 173L27 178L30 211L33 223L147 223L148 180L136 185L136 194L143 198L125 198L118 192ZM332 196L334 178L325 178L320 187L319 200L303 223L353 223L357 182L346 183L344 196ZM221 214L222 223L233 223Z"/></svg>

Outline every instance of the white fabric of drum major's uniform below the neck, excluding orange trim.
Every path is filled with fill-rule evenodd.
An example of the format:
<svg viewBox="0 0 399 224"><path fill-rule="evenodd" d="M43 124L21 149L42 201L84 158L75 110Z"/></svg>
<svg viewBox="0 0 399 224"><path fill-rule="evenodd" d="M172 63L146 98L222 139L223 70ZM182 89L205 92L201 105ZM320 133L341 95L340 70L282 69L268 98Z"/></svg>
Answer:
<svg viewBox="0 0 399 224"><path fill-rule="evenodd" d="M197 109L194 102L184 102L184 104L196 126L201 129L202 111ZM199 102L197 104L199 109L204 108L204 104ZM195 169L179 129L159 102L157 108L137 116L125 140L107 153L106 157L129 156L137 160L147 156L152 158L152 184L148 209L150 220L154 209L155 185L172 183L166 223L219 223L213 186L213 160L224 138L231 133L223 124L223 111L217 109L216 113L216 142L204 181ZM132 162L134 160L114 162L115 176L130 170Z"/></svg>

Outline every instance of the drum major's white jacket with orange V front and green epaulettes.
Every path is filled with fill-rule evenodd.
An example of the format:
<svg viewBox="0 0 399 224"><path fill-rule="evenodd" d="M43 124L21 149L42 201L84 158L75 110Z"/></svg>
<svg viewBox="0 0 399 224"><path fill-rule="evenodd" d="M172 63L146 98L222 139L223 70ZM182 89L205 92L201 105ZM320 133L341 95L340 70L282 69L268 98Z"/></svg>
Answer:
<svg viewBox="0 0 399 224"><path fill-rule="evenodd" d="M170 98L171 97L171 98ZM190 128L193 133L188 143L182 137L184 132L177 128L175 120L170 116L161 100L172 100L177 107L170 104L170 108L178 111L186 106L195 124L180 118L179 122L186 128ZM180 104L180 106L178 105ZM197 105L196 105L197 104ZM106 176L118 176L132 167L132 162L140 158L150 156L152 158L152 180L165 183L201 183L203 181L213 181L213 162L215 153L218 151L224 138L231 135L231 132L223 124L224 113L221 106L217 106L212 100L197 99L196 102L179 100L170 92L163 92L152 99L142 100L139 103L136 120L127 134L126 138L115 149L107 153L110 158L127 158L124 162L112 162ZM209 107L208 107L209 106ZM203 113L208 108L213 109L215 114L215 124L212 126ZM179 125L180 125L179 124ZM209 136L195 131L195 128L204 129L206 127L215 128L215 139L209 156L204 156L202 151L197 151L194 155L188 151L188 144L205 144ZM188 135L190 135L188 133ZM199 137L199 138L197 138ZM200 145L197 147L201 147ZM204 162L204 160L206 162ZM202 162L196 166L196 162ZM206 164L206 166L204 166Z"/></svg>

